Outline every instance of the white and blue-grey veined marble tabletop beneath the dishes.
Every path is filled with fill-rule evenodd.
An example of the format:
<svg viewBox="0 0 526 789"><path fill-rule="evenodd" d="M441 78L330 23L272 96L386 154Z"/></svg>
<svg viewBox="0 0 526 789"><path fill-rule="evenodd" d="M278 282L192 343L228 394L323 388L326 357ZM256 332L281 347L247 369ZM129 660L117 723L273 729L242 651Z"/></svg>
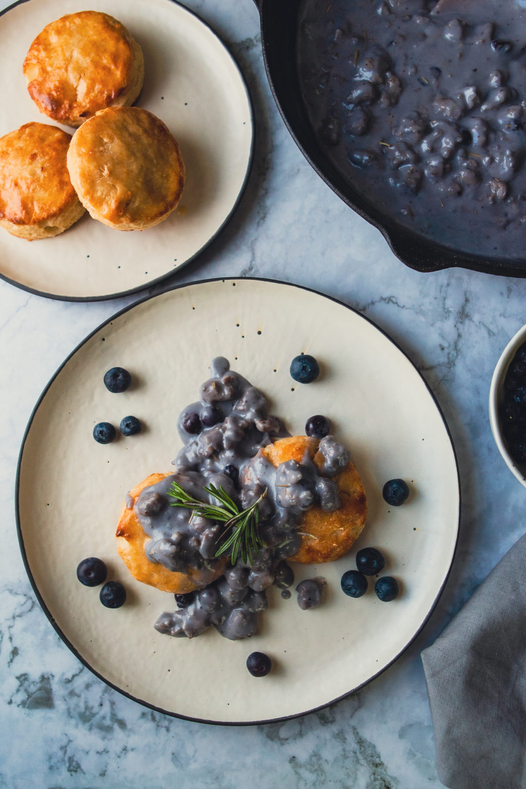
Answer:
<svg viewBox="0 0 526 789"><path fill-rule="evenodd" d="M323 712L263 727L213 727L121 697L69 653L39 608L18 548L13 487L24 428L50 376L133 299L50 301L0 282L0 787L439 787L420 651L524 532L526 492L494 446L487 395L502 348L524 323L526 281L463 270L420 274L401 264L315 175L286 131L264 75L251 0L187 5L236 54L256 106L257 141L233 221L176 281L258 275L298 282L387 331L423 372L453 434L463 501L457 559L431 621L405 655Z"/></svg>

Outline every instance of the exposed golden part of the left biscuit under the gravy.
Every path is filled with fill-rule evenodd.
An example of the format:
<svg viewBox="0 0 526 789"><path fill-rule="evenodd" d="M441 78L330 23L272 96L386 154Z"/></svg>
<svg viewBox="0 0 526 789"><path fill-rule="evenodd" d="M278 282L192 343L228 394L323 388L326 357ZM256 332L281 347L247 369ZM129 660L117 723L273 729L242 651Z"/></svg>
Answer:
<svg viewBox="0 0 526 789"><path fill-rule="evenodd" d="M140 517L142 515L147 518L148 511L153 513L154 510L156 514L159 514L160 495L155 493L152 495L151 492L148 495L148 488L169 477L171 478L170 474L150 474L129 492L129 500L122 505L115 533L118 542L117 550L133 578L136 578L137 581L155 586L162 592L186 594L215 581L225 570L226 560L214 559L206 566L201 563L202 567L185 567L185 571L177 572L172 569L177 566L177 559L173 555L163 553L162 550L155 551L155 537L144 531ZM144 495L140 499L143 492ZM135 510L137 506L139 507L139 515ZM167 507L168 503L162 502L162 506ZM159 561L155 561L155 556L158 556Z"/></svg>

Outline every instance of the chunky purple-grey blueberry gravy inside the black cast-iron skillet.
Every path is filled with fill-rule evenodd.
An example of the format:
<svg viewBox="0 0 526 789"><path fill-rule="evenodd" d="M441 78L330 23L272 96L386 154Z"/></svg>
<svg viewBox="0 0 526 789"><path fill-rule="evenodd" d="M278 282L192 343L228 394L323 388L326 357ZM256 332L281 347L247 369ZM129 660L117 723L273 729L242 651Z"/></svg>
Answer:
<svg viewBox="0 0 526 789"><path fill-rule="evenodd" d="M301 0L304 104L328 158L398 225L524 258L522 0ZM526 5L526 3L524 3Z"/></svg>

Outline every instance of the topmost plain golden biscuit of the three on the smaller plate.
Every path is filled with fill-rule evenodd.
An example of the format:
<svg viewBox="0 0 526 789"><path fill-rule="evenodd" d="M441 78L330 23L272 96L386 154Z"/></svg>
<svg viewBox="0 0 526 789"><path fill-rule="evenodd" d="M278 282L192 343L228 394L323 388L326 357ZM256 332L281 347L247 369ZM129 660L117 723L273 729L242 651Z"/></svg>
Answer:
<svg viewBox="0 0 526 789"><path fill-rule="evenodd" d="M69 13L36 36L24 60L28 92L40 112L80 126L140 93L144 58L121 22L99 11Z"/></svg>

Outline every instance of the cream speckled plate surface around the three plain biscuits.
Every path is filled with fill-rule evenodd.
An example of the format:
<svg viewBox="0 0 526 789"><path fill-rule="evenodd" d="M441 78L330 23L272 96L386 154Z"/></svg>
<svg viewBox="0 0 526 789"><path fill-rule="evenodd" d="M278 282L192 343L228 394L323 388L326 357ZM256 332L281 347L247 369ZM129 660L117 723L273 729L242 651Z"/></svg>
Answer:
<svg viewBox="0 0 526 789"><path fill-rule="evenodd" d="M30 121L53 123L32 102L22 63L46 24L85 8L82 0L28 0L0 16L0 136ZM93 0L89 8L116 17L143 48L144 88L136 104L173 133L187 178L176 211L142 232L112 230L89 215L42 241L0 230L3 279L83 301L141 290L192 260L229 219L252 163L248 91L207 24L173 0Z"/></svg>

